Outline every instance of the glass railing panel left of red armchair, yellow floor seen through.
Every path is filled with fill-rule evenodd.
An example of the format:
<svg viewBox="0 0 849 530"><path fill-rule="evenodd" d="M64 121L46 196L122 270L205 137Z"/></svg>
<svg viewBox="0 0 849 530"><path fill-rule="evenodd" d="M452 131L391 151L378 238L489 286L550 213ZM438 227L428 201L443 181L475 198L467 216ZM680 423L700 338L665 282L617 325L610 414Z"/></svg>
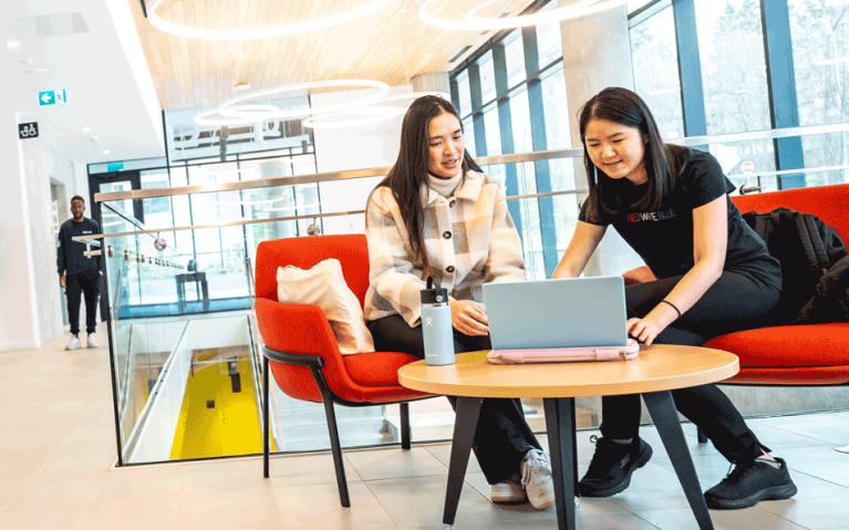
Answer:
<svg viewBox="0 0 849 530"><path fill-rule="evenodd" d="M245 252L182 253L118 204L102 205L102 221L122 463L260 450L261 353ZM208 428L186 429L198 423Z"/></svg>

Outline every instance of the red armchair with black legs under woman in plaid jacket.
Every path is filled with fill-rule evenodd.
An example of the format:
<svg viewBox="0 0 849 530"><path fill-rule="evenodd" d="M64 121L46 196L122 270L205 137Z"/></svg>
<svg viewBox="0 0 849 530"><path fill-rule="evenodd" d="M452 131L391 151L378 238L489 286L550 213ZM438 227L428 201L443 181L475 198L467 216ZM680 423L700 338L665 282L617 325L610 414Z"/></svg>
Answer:
<svg viewBox="0 0 849 530"><path fill-rule="evenodd" d="M342 506L351 506L342 463L333 403L359 407L401 404L401 445L410 449L407 402L431 397L398 384L397 370L415 361L398 352L342 356L324 313L315 305L279 303L277 269L293 264L309 269L335 258L345 282L360 300L369 289L369 249L363 235L318 236L263 241L257 247L256 314L263 342L263 466L269 475L269 366L287 395L323 403Z"/></svg>

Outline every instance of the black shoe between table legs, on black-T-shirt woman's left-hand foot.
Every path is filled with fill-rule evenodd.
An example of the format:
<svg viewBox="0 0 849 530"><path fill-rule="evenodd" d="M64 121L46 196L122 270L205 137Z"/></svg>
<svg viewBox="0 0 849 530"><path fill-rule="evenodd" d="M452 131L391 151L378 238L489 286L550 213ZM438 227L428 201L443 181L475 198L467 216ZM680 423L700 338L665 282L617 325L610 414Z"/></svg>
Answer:
<svg viewBox="0 0 849 530"><path fill-rule="evenodd" d="M596 436L590 441L596 443L596 454L578 484L581 497L610 497L624 491L631 484L631 474L652 457L652 446L640 437L629 445Z"/></svg>

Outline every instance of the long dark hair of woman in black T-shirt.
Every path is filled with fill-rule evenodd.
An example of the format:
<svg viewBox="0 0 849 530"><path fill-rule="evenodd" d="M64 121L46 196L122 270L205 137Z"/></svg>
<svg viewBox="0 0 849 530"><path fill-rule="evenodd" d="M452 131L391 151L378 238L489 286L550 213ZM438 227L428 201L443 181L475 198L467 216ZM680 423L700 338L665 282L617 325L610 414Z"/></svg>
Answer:
<svg viewBox="0 0 849 530"><path fill-rule="evenodd" d="M587 198L589 220L598 220L600 209L614 215L629 207L643 210L658 209L663 198L674 187L675 178L686 164L688 157L686 147L664 143L649 106L628 89L610 87L599 92L583 104L578 119L583 144L583 165L590 184L590 196ZM605 119L635 127L646 139L643 166L649 177L649 189L636 202L621 204L615 193L615 181L592 163L584 137L587 125L592 119Z"/></svg>

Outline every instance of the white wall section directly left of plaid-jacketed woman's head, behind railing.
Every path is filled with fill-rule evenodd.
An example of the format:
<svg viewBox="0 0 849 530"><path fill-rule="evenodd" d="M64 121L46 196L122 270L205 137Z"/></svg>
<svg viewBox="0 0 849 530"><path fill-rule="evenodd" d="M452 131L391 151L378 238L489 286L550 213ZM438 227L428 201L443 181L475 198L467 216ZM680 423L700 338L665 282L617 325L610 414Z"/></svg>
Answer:
<svg viewBox="0 0 849 530"><path fill-rule="evenodd" d="M412 86L396 86L390 94L412 92ZM362 97L370 91L334 92L311 97L312 106L330 105ZM398 103L408 105L412 100ZM355 115L340 116L352 119ZM395 164L401 145L403 116L372 125L314 131L315 159L319 173L391 166ZM320 183L322 211L352 211L365 208L369 194L381 178ZM363 216L329 217L323 220L323 233L362 233Z"/></svg>

